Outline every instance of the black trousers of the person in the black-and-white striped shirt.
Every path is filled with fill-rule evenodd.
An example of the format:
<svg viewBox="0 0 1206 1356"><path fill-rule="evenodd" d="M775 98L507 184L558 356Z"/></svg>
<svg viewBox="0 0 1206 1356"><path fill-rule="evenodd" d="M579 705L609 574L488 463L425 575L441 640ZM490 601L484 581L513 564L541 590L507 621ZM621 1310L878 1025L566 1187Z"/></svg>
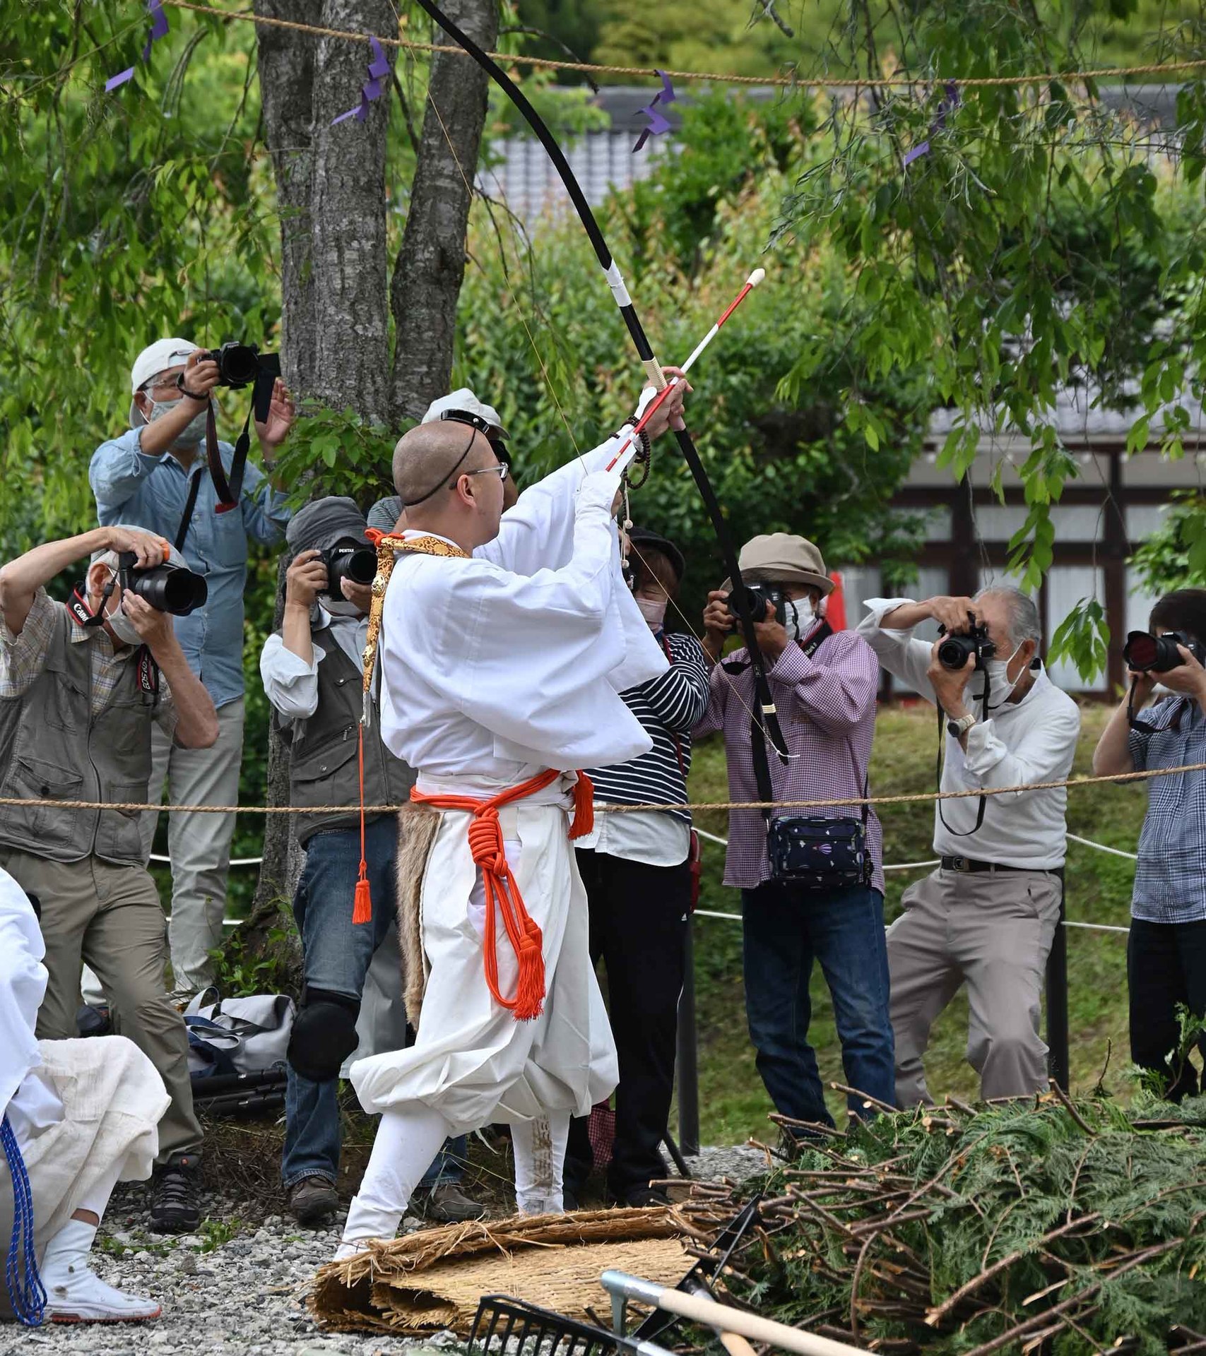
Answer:
<svg viewBox="0 0 1206 1356"><path fill-rule="evenodd" d="M678 995L690 910L690 868L647 866L579 850L590 900L590 959L608 972L608 1009L620 1056L616 1143L608 1189L617 1200L666 1176L661 1149L674 1092ZM570 1121L566 1186L590 1174L586 1117Z"/></svg>

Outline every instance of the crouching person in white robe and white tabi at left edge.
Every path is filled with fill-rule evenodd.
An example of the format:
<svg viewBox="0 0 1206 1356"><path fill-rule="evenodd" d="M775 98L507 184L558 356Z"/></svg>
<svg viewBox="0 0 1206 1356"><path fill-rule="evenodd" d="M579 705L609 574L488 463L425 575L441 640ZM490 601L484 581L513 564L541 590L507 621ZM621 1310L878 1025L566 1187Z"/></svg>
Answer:
<svg viewBox="0 0 1206 1356"><path fill-rule="evenodd" d="M153 1299L114 1290L90 1271L88 1250L117 1182L151 1176L156 1125L170 1098L151 1060L122 1036L35 1040L46 991L43 952L30 900L0 871L0 1115L28 1174L43 1321L157 1318ZM0 1153L5 1256L12 1235L14 1173ZM18 1271L31 1275L23 1245ZM12 1317L12 1300L0 1285L0 1315Z"/></svg>

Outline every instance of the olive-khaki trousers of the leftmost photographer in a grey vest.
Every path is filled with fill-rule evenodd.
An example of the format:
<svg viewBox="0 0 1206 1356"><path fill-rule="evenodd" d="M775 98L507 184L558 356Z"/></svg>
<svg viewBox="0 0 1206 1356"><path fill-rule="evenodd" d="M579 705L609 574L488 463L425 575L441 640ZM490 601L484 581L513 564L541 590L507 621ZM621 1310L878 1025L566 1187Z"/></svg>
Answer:
<svg viewBox="0 0 1206 1356"><path fill-rule="evenodd" d="M167 929L155 881L142 866L46 861L0 849L3 866L35 895L46 942L46 997L38 1012L39 1040L76 1035L81 961L95 971L109 999L114 1031L126 1036L159 1070L171 1105L159 1123L164 1163L201 1151L201 1124L189 1082L184 1020L164 993ZM102 1050L98 1043L98 1051Z"/></svg>

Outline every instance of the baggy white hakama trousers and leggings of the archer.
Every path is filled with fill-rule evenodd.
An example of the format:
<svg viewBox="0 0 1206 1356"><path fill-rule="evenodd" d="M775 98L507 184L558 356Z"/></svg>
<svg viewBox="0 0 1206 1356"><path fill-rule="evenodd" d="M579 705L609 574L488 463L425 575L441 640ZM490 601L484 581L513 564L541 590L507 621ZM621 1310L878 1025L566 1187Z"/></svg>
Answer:
<svg viewBox="0 0 1206 1356"><path fill-rule="evenodd" d="M521 1208L559 1208L568 1119L585 1116L619 1081L564 808L518 801L499 811L507 862L543 937L545 999L533 1021L516 1021L486 982L486 903L468 846L469 818L442 812L423 875L430 974L415 1044L351 1067L361 1105L384 1115L349 1212L346 1250L365 1238L393 1237L444 1136L492 1121L549 1123L516 1134L517 1178ZM499 990L511 997L518 963L501 914L495 937Z"/></svg>

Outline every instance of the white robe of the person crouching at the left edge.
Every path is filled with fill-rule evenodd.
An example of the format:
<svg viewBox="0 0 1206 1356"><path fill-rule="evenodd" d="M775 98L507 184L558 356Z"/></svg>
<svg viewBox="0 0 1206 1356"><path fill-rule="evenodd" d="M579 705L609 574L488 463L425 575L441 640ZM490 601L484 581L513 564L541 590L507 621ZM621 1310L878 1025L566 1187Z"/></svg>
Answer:
<svg viewBox="0 0 1206 1356"><path fill-rule="evenodd" d="M115 1181L151 1176L156 1127L170 1102L155 1066L123 1036L35 1039L43 955L33 906L0 871L0 1115L28 1172L39 1258L75 1211L103 1210ZM4 1252L11 1237L12 1178L0 1153ZM8 1313L7 1300L0 1283L0 1313Z"/></svg>

